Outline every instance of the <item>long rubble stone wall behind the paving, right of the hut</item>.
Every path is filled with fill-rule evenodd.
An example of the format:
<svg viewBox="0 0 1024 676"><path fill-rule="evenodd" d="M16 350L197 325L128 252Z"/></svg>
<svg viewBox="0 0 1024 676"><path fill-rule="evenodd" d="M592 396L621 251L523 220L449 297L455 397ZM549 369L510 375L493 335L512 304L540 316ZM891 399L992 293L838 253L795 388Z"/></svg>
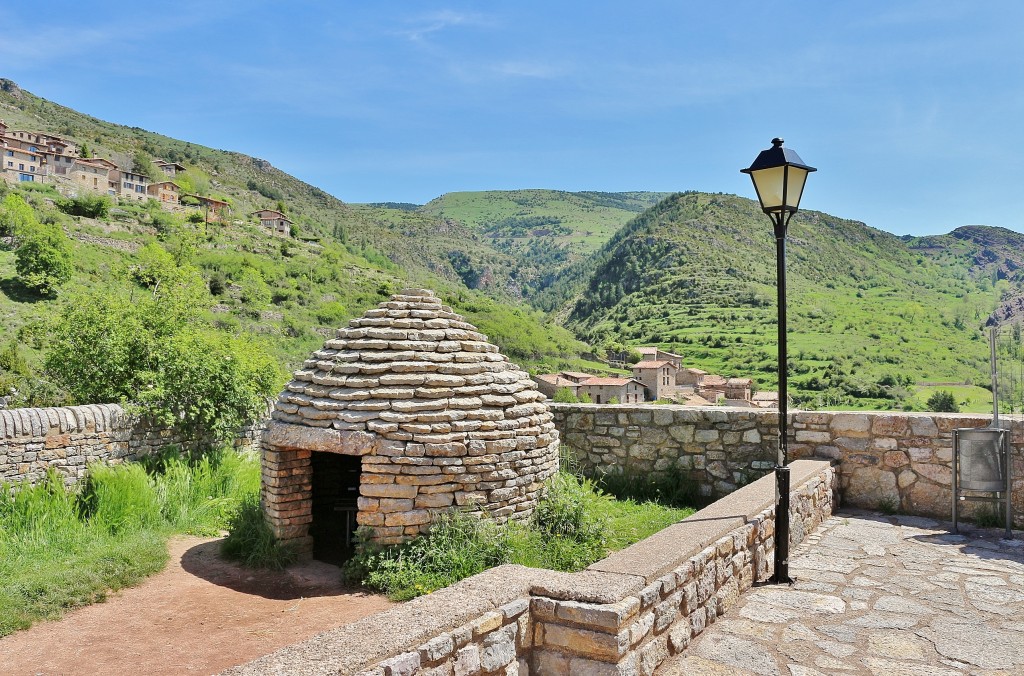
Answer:
<svg viewBox="0 0 1024 676"><path fill-rule="evenodd" d="M770 471L778 414L722 407L549 405L562 443L588 471L682 471L722 496ZM847 504L950 518L952 430L991 416L946 413L790 414L791 458L839 461ZM1024 525L1024 421L1013 427L1015 520ZM978 503L965 505L967 516Z"/></svg>

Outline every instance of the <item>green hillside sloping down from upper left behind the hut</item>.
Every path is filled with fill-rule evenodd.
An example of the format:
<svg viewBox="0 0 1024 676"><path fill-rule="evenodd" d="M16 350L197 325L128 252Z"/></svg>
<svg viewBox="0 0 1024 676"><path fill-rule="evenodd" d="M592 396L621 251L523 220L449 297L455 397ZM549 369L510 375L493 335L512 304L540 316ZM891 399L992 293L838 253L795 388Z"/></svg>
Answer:
<svg viewBox="0 0 1024 676"><path fill-rule="evenodd" d="M24 382L34 382L48 348L50 320L62 303L79 302L89 291L139 292L129 271L147 243L200 269L210 291L210 326L259 336L283 371L294 369L334 328L410 284L436 289L524 366L580 366L587 350L568 331L516 301L514 285L506 290L514 262L485 243L474 246L468 226L401 209L351 208L265 161L106 123L10 81L0 81L0 119L11 128L65 136L125 167L139 156L179 162L187 171L176 180L187 192L230 204L223 222L209 224L186 222L183 214L163 212L153 202L115 205L93 219L56 209L60 196L50 185L0 181L0 198L18 194L39 220L62 227L73 241L75 263L55 299L39 297L18 283L12 243L0 241L0 381L17 371ZM279 238L261 227L249 215L260 208L284 208L299 238ZM481 270L475 288L463 283L467 268Z"/></svg>

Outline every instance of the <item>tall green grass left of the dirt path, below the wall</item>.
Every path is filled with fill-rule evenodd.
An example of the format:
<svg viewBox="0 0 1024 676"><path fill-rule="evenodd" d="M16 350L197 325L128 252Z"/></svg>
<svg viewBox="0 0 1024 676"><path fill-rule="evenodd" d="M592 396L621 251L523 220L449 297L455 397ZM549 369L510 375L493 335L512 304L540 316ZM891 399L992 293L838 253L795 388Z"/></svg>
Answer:
<svg viewBox="0 0 1024 676"><path fill-rule="evenodd" d="M258 491L258 461L233 451L96 465L77 488L56 472L3 485L0 636L137 584L164 567L171 535L218 533Z"/></svg>

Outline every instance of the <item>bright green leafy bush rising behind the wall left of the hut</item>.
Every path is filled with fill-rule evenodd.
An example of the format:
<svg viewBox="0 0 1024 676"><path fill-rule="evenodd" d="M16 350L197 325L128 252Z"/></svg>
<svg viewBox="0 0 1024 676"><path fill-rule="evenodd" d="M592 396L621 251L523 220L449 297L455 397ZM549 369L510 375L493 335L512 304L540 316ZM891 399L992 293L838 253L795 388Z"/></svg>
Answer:
<svg viewBox="0 0 1024 676"><path fill-rule="evenodd" d="M46 370L77 404L118 402L194 437L226 438L262 413L281 374L253 340L204 327L206 285L152 245L132 296L88 293L58 316Z"/></svg>

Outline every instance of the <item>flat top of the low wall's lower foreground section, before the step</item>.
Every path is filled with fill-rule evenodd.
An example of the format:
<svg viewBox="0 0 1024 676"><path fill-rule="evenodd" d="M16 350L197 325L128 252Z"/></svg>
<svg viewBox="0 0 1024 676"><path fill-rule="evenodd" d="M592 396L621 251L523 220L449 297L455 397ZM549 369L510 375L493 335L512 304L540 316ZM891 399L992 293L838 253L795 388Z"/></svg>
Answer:
<svg viewBox="0 0 1024 676"><path fill-rule="evenodd" d="M351 624L286 646L222 674L353 674L515 601L553 571L506 564Z"/></svg>

